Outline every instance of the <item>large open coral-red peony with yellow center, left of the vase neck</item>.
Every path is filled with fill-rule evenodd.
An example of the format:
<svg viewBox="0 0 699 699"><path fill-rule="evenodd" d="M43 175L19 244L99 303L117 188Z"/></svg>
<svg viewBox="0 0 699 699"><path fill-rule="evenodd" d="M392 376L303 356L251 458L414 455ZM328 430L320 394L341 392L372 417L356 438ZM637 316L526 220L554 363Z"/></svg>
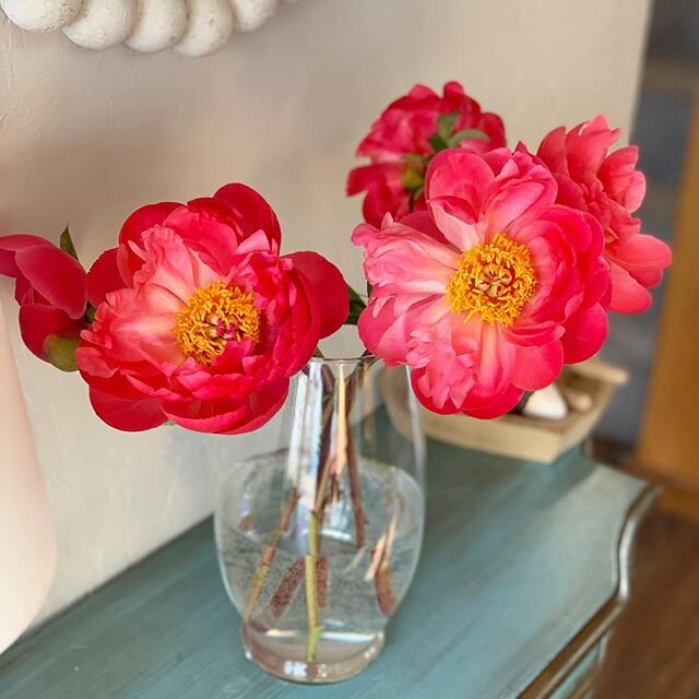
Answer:
<svg viewBox="0 0 699 699"><path fill-rule="evenodd" d="M242 185L134 212L100 259L115 291L78 350L95 412L123 430L169 419L238 434L270 419L348 308L336 268L280 257L280 240L274 212Z"/></svg>

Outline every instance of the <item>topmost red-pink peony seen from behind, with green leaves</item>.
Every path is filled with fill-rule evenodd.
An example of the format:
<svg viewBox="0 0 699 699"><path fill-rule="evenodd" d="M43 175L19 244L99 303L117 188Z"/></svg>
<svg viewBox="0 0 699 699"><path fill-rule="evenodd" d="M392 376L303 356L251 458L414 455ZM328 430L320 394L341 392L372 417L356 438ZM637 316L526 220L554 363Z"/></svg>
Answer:
<svg viewBox="0 0 699 699"><path fill-rule="evenodd" d="M415 85L389 105L359 143L357 156L371 164L350 173L347 194L366 191L364 217L380 226L386 213L399 220L424 209L425 170L438 151L460 146L485 153L503 145L500 117L481 111L460 83L447 83L441 97Z"/></svg>

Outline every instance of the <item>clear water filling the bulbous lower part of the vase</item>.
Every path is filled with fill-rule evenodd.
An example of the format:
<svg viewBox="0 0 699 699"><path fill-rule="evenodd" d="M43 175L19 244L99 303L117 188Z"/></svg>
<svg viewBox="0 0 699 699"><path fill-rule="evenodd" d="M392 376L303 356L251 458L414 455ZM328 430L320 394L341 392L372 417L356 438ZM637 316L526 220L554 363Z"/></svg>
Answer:
<svg viewBox="0 0 699 699"><path fill-rule="evenodd" d="M357 655L364 655L365 665L380 650L383 628L419 557L424 495L404 470L359 458L363 532L357 532L356 500L343 474L322 508L317 550L311 550L313 508L305 507L303 496L294 502L280 497L291 493L287 467L288 454L280 451L228 473L216 510L220 561L246 620L248 648L259 643L271 656L285 659L279 674L293 678L297 672L305 682L322 682L329 679L322 676L327 667L337 672L337 663ZM317 614L313 624L309 605ZM309 656L313 626L317 639Z"/></svg>

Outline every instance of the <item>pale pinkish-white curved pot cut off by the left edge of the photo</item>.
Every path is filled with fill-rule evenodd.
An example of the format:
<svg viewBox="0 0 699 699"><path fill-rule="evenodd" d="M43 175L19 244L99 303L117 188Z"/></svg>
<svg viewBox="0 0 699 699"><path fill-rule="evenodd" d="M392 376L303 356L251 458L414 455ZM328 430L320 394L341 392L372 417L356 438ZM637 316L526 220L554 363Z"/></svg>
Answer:
<svg viewBox="0 0 699 699"><path fill-rule="evenodd" d="M56 567L56 538L0 306L0 653L29 626Z"/></svg>

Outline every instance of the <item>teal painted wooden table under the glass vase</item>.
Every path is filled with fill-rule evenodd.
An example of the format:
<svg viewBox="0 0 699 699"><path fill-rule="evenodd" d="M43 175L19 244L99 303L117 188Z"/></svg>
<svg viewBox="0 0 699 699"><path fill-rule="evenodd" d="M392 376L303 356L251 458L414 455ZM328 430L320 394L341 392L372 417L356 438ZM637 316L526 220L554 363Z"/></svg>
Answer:
<svg viewBox="0 0 699 699"><path fill-rule="evenodd" d="M577 452L540 466L430 443L419 569L359 677L304 687L247 662L204 522L1 656L0 697L587 696L652 497Z"/></svg>

